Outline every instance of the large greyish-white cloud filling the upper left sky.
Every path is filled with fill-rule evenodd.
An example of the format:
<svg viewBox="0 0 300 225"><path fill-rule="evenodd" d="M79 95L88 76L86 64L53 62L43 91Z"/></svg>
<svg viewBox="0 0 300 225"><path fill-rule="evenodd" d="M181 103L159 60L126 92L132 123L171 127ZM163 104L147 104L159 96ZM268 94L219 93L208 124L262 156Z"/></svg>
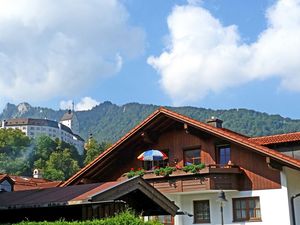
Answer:
<svg viewBox="0 0 300 225"><path fill-rule="evenodd" d="M0 90L15 101L73 96L144 49L118 0L0 0Z"/></svg>

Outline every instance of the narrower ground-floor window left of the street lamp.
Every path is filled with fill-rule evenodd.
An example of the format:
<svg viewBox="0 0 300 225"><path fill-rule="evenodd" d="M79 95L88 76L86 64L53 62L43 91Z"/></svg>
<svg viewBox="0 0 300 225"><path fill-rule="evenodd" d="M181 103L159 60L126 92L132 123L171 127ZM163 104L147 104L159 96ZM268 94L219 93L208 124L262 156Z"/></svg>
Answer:
<svg viewBox="0 0 300 225"><path fill-rule="evenodd" d="M209 200L194 201L194 223L210 223Z"/></svg>

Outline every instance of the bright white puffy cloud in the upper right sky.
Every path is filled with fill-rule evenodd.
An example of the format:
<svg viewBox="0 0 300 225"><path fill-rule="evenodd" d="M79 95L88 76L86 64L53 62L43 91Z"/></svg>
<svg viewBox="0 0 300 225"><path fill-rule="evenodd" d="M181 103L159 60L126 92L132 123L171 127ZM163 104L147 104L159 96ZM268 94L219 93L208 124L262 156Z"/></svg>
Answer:
<svg viewBox="0 0 300 225"><path fill-rule="evenodd" d="M235 25L223 26L206 9L176 6L168 17L168 48L148 63L176 105L274 76L283 88L300 91L299 0L278 1L266 18L267 29L245 44Z"/></svg>

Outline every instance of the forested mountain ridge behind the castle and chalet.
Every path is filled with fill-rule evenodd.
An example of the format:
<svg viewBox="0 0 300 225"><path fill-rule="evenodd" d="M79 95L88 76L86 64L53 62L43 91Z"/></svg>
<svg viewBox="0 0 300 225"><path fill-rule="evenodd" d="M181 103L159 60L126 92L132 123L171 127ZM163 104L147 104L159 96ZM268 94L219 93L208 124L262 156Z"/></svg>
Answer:
<svg viewBox="0 0 300 225"><path fill-rule="evenodd" d="M130 129L145 119L159 106L128 103L116 105L103 102L91 110L77 112L80 135L87 138L90 133L99 140L115 142ZM224 121L223 127L247 136L271 135L300 131L300 120L269 115L248 109L212 110L196 107L167 107L196 120L205 121L212 116ZM65 110L33 107L28 103L8 103L0 114L0 120L18 117L48 118L59 121Z"/></svg>

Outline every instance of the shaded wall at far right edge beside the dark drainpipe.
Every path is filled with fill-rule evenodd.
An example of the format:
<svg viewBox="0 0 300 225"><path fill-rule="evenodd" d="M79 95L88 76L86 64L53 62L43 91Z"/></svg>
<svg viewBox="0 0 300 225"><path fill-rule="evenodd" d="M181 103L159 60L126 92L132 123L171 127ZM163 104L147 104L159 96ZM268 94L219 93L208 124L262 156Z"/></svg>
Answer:
<svg viewBox="0 0 300 225"><path fill-rule="evenodd" d="M300 171L284 167L286 174L289 199L300 193ZM300 224L300 197L294 199L296 224ZM290 208L291 210L291 208ZM291 215L292 216L292 215ZM292 219L291 219L292 220Z"/></svg>

